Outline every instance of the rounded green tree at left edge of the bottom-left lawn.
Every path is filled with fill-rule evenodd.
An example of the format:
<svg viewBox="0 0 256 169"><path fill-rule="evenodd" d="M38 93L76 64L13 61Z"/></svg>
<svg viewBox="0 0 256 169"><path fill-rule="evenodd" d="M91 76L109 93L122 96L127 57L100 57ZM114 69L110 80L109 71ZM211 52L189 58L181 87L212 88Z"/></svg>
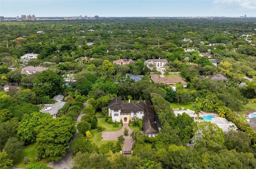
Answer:
<svg viewBox="0 0 256 169"><path fill-rule="evenodd" d="M17 138L9 138L4 146L4 150L8 154L8 158L12 159L12 161L16 163L22 153L23 143L20 142Z"/></svg>

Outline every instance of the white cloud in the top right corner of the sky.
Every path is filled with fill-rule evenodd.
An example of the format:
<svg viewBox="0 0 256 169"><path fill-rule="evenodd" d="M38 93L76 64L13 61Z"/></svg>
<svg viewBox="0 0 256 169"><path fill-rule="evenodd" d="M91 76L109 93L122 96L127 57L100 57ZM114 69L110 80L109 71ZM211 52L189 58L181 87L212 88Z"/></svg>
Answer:
<svg viewBox="0 0 256 169"><path fill-rule="evenodd" d="M238 4L242 8L255 10L256 9L256 0L214 0L214 4Z"/></svg>

